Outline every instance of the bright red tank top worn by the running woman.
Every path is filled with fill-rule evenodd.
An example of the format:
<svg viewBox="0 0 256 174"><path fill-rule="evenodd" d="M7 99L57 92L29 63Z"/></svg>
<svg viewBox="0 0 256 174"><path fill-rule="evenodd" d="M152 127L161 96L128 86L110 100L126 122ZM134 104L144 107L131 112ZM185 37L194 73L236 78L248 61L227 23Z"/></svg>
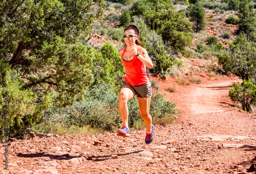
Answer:
<svg viewBox="0 0 256 174"><path fill-rule="evenodd" d="M148 77L146 75L146 66L135 55L133 56L133 59L130 61L124 60L123 55L126 48L127 47L124 48L123 54L121 56L126 74L125 81L133 86L146 84L148 82Z"/></svg>

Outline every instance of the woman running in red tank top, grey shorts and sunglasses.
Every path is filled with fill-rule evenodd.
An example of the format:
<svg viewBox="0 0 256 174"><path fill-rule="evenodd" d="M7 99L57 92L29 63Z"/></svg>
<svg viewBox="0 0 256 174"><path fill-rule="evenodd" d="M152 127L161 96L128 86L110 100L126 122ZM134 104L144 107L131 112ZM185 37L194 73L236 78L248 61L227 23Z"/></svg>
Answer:
<svg viewBox="0 0 256 174"><path fill-rule="evenodd" d="M152 90L150 80L146 75L146 67L152 69L153 62L139 40L139 28L136 25L131 24L124 29L123 39L127 47L118 52L125 69L125 75L122 76L122 80L125 81L119 93L119 113L123 127L117 130L117 135L130 137L127 102L137 95L140 116L146 124L145 143L150 144L153 141L155 127L152 124L152 117L148 113Z"/></svg>

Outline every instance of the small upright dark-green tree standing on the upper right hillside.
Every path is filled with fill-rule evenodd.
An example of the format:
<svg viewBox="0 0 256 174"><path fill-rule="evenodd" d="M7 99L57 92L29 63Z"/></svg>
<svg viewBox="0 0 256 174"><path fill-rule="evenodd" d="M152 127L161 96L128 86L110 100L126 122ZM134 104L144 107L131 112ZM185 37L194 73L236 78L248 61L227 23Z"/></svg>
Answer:
<svg viewBox="0 0 256 174"><path fill-rule="evenodd" d="M195 22L196 32L199 30L204 30L206 27L205 21L205 10L201 3L196 3L195 5L190 5L190 19Z"/></svg>

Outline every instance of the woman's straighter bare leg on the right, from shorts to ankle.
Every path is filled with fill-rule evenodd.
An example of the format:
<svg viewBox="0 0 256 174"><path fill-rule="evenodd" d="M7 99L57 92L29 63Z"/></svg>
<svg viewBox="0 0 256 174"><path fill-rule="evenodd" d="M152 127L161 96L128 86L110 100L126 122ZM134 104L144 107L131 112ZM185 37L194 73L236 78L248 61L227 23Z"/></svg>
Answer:
<svg viewBox="0 0 256 174"><path fill-rule="evenodd" d="M147 97L147 98L137 97L137 99L139 102L140 116L142 117L142 119L144 120L144 122L146 124L146 132L151 132L152 117L149 113L151 96Z"/></svg>

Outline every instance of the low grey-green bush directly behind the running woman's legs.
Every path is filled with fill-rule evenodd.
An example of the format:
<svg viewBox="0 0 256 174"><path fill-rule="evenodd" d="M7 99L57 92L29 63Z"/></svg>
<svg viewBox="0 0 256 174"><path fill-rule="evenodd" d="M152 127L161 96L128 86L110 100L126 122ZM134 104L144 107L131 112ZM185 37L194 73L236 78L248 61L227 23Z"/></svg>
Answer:
<svg viewBox="0 0 256 174"><path fill-rule="evenodd" d="M45 114L45 121L62 127L83 127L89 125L95 129L113 132L120 127L122 121L118 111L118 94L115 87L106 84L92 86L86 92L84 100L66 108L51 109ZM129 127L143 121L139 114L137 98L129 100ZM154 94L151 100L150 114L156 118L174 118L178 114L176 104L165 100L163 94Z"/></svg>

